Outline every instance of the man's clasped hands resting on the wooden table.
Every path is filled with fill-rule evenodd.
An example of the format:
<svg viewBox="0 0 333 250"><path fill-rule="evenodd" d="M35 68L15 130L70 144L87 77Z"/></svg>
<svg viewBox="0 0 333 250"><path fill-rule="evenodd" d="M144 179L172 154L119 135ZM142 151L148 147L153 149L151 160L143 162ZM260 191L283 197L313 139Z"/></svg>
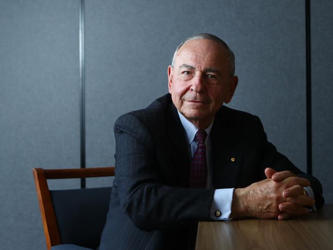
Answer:
<svg viewBox="0 0 333 250"><path fill-rule="evenodd" d="M265 180L235 189L231 217L285 220L308 213L304 206L315 204L313 198L304 195L303 187L310 185L307 179L290 171L276 172L271 168L265 169L265 175Z"/></svg>

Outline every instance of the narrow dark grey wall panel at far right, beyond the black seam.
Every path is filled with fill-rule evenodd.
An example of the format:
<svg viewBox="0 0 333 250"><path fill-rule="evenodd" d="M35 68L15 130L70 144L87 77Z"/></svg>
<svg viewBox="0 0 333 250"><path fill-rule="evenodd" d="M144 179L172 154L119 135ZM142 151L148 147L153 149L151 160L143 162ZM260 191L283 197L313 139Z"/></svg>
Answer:
<svg viewBox="0 0 333 250"><path fill-rule="evenodd" d="M311 2L313 174L333 203L333 10L332 1Z"/></svg>

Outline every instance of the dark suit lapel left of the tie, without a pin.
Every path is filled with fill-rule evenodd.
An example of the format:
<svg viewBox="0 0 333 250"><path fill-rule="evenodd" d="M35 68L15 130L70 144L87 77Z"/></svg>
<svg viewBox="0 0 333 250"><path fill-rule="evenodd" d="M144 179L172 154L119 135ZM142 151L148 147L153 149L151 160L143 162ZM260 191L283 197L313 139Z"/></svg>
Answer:
<svg viewBox="0 0 333 250"><path fill-rule="evenodd" d="M186 140L185 131L179 119L176 107L171 103L168 112L168 119L166 119L166 128L168 130L168 137L170 140L171 154L177 175L177 181L180 186L189 186L189 171L190 171L190 153L189 145Z"/></svg>

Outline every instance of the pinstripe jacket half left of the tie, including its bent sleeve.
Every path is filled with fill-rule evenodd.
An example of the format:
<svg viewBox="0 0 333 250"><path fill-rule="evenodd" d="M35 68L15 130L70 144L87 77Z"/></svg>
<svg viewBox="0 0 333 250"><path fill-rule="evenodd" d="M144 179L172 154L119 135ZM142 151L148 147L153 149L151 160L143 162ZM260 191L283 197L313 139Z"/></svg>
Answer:
<svg viewBox="0 0 333 250"><path fill-rule="evenodd" d="M176 109L131 112L114 130L113 202L99 249L186 248L188 228L210 219L214 191L188 188L190 156Z"/></svg>

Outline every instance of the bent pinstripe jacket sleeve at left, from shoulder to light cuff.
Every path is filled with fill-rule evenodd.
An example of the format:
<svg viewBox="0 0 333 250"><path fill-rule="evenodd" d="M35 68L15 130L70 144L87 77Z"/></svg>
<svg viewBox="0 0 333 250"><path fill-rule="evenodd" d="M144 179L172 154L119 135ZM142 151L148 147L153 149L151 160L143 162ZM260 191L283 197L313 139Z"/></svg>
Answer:
<svg viewBox="0 0 333 250"><path fill-rule="evenodd" d="M137 116L121 116L114 132L120 205L138 228L149 231L210 220L214 190L161 183L154 142Z"/></svg>

